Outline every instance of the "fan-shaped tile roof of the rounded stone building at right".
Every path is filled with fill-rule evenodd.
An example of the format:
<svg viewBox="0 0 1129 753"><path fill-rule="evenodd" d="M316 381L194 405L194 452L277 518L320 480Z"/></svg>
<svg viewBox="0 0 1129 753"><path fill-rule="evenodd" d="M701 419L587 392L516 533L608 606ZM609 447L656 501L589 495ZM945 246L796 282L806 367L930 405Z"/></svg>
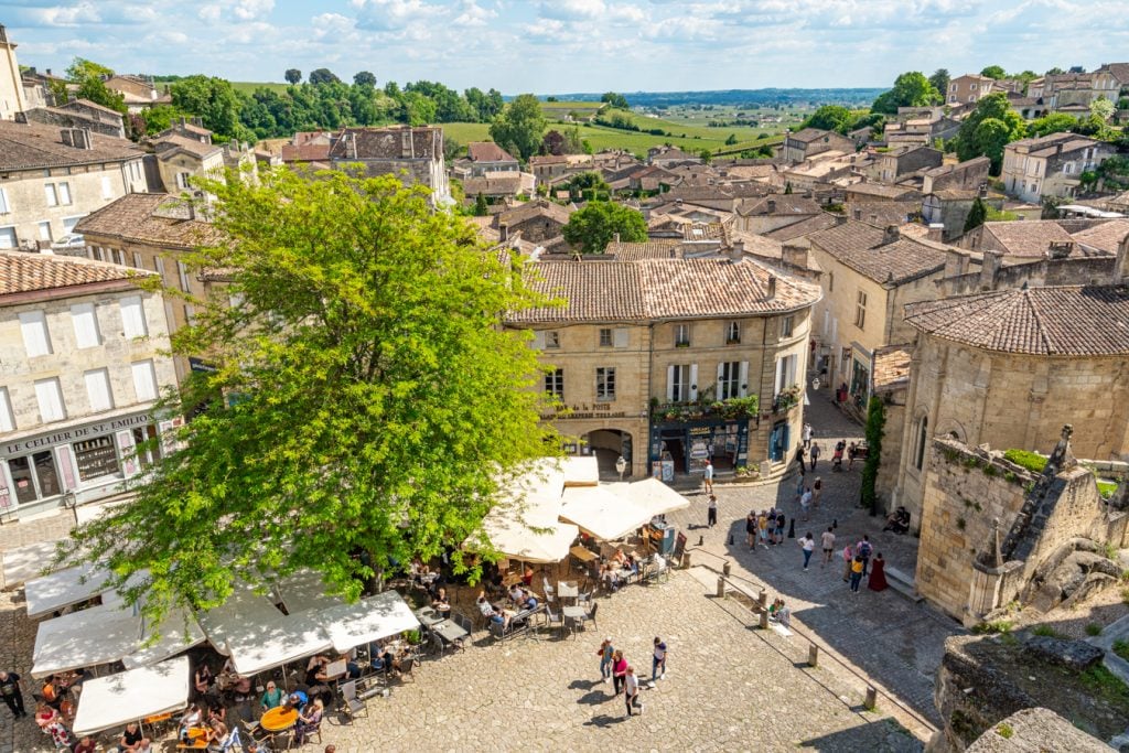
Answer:
<svg viewBox="0 0 1129 753"><path fill-rule="evenodd" d="M1031 356L1129 354L1129 288L994 290L909 304L905 321L984 350Z"/></svg>

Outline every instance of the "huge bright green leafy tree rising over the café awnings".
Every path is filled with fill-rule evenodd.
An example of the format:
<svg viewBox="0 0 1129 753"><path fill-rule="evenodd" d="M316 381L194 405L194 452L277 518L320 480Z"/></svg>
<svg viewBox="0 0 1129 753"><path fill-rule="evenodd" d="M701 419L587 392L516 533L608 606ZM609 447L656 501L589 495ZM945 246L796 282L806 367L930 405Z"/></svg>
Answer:
<svg viewBox="0 0 1129 753"><path fill-rule="evenodd" d="M498 326L545 304L519 261L429 211L425 189L316 178L203 185L225 240L189 261L224 269L224 301L196 301L174 335L175 352L216 366L183 387L182 405L204 408L71 554L107 561L150 618L297 568L349 598L415 555L450 550L462 571L457 548L480 541L499 474L557 444L539 421L536 354Z"/></svg>

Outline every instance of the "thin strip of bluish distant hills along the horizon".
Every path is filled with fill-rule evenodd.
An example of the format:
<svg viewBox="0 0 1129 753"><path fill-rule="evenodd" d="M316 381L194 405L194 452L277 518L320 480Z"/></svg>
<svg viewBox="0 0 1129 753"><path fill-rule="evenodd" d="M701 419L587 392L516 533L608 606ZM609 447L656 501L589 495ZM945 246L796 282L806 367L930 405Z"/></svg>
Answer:
<svg viewBox="0 0 1129 753"><path fill-rule="evenodd" d="M804 105L869 106L885 88L866 89L723 89L717 91L621 91L633 107L676 105ZM550 95L537 95L542 99ZM561 100L599 102L603 94L554 94Z"/></svg>

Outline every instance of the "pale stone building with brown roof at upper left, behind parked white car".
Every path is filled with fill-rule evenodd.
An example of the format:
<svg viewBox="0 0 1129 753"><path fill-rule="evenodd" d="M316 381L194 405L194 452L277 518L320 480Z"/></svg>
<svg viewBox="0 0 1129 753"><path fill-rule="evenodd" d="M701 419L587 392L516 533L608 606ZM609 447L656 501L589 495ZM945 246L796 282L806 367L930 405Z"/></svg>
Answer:
<svg viewBox="0 0 1129 753"><path fill-rule="evenodd" d="M86 214L148 191L143 157L87 129L0 120L0 249L50 246Z"/></svg>

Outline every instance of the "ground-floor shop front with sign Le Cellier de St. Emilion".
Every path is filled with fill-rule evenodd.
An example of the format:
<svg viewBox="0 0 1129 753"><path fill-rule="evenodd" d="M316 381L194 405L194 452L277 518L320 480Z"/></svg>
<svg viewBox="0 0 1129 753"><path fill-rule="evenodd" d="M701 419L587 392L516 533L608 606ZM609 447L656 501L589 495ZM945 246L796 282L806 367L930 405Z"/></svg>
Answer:
<svg viewBox="0 0 1129 753"><path fill-rule="evenodd" d="M82 505L117 493L124 480L170 449L182 422L143 411L10 435L0 443L0 515L23 516L64 500Z"/></svg>

